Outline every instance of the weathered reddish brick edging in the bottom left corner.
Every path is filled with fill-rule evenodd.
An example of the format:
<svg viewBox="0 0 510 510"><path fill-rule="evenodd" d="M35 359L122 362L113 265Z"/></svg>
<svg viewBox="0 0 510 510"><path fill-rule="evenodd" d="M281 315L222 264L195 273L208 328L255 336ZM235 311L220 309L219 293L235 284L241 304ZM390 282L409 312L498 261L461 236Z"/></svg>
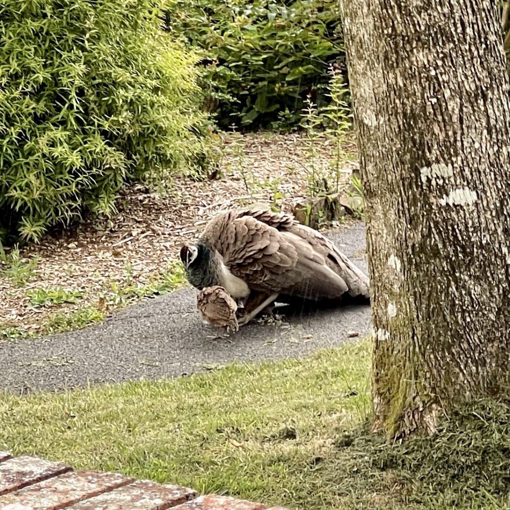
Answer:
<svg viewBox="0 0 510 510"><path fill-rule="evenodd" d="M287 510L118 473L74 471L39 457L0 452L2 510Z"/></svg>

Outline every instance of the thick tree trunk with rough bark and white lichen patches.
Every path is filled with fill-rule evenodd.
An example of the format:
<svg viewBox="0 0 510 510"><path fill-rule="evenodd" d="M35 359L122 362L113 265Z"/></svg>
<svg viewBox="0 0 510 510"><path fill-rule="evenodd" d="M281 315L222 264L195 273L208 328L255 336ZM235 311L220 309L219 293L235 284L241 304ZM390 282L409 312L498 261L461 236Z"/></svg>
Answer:
<svg viewBox="0 0 510 510"><path fill-rule="evenodd" d="M375 426L435 430L510 370L509 87L489 0L344 0Z"/></svg>

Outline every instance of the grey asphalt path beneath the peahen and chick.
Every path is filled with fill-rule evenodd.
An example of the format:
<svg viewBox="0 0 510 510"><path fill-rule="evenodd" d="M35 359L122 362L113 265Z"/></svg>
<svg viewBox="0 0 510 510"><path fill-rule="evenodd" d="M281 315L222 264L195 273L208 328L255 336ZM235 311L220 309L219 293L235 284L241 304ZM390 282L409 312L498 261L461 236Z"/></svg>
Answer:
<svg viewBox="0 0 510 510"><path fill-rule="evenodd" d="M329 236L364 270L363 225ZM187 288L147 299L116 312L103 324L79 331L0 342L0 389L11 392L62 390L126 379L171 377L232 361L295 358L338 346L349 331L370 327L367 304L301 311L285 322L250 323L226 339L201 323L196 291Z"/></svg>

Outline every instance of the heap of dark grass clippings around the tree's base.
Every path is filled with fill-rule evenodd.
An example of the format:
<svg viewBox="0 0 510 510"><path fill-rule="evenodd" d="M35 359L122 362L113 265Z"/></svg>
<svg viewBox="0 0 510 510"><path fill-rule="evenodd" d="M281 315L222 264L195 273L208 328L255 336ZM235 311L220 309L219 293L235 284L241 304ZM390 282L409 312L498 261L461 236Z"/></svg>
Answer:
<svg viewBox="0 0 510 510"><path fill-rule="evenodd" d="M344 460L341 486L349 485L364 504L372 492L368 508L510 507L508 403L487 399L458 407L439 419L432 436L389 445L367 428L336 445Z"/></svg>

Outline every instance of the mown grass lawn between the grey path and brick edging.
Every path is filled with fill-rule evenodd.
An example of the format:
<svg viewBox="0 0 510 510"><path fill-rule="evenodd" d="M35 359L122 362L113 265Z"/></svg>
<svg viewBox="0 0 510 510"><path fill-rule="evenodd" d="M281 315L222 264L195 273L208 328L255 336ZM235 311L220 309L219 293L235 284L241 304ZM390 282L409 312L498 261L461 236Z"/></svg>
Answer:
<svg viewBox="0 0 510 510"><path fill-rule="evenodd" d="M59 394L0 394L0 450L290 508L510 508L508 406L367 431L370 346Z"/></svg>

